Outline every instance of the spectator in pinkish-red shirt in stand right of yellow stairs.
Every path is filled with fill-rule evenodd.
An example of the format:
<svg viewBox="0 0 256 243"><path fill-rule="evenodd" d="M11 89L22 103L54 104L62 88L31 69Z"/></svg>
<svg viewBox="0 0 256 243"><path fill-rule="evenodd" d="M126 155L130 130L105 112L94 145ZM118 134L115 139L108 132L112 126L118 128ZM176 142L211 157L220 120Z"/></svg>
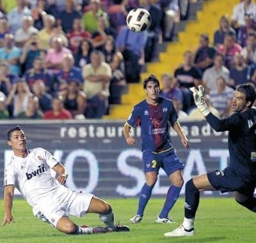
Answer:
<svg viewBox="0 0 256 243"><path fill-rule="evenodd" d="M218 47L218 52L225 56L225 66L228 69L234 65L234 55L242 50L241 45L236 43L236 35L231 31L225 35L223 45Z"/></svg>

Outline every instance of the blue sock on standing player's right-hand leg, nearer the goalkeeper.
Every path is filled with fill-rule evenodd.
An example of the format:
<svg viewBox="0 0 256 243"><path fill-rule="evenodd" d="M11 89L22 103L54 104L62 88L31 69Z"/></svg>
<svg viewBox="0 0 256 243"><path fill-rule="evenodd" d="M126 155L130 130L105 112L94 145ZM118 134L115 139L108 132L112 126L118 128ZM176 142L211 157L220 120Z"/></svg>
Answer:
<svg viewBox="0 0 256 243"><path fill-rule="evenodd" d="M159 217L161 219L168 217L170 210L179 198L180 190L181 188L178 188L177 186L170 186L170 188L168 189L166 200L164 202L164 207L159 214Z"/></svg>

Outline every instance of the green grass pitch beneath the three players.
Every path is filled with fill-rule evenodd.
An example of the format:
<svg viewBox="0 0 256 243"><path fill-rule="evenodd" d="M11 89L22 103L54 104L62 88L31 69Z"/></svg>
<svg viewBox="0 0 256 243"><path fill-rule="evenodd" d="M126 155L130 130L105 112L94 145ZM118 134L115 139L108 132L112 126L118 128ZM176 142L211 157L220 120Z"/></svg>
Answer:
<svg viewBox="0 0 256 243"><path fill-rule="evenodd" d="M115 211L115 221L131 228L131 232L105 233L98 235L65 235L33 216L31 207L22 199L15 199L13 204L14 224L1 226L0 242L90 242L90 243L151 243L151 242L256 242L255 214L241 207L233 198L201 198L196 216L194 237L166 238L164 233L175 229L182 223L184 216L184 198L179 198L171 212L177 223L162 225L154 222L164 202L164 198L152 198L145 210L141 223L132 225L129 218L134 216L138 199L107 200ZM1 220L4 216L3 200ZM102 223L95 214L73 218L79 225L100 226ZM103 226L103 225L102 225Z"/></svg>

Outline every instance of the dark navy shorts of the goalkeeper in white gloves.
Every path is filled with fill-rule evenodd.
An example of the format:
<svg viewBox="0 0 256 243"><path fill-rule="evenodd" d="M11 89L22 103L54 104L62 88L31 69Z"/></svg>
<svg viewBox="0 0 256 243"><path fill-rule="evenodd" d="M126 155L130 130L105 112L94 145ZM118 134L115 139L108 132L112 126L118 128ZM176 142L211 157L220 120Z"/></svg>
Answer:
<svg viewBox="0 0 256 243"><path fill-rule="evenodd" d="M221 193L228 191L238 191L243 195L252 196L255 190L255 181L250 181L246 177L237 175L232 168L227 167L225 170L216 170L207 173L211 185Z"/></svg>

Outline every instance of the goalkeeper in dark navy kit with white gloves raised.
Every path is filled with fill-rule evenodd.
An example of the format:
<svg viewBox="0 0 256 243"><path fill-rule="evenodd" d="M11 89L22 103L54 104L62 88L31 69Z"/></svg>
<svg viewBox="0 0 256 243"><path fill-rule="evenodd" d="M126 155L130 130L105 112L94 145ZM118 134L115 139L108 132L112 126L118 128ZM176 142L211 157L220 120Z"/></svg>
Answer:
<svg viewBox="0 0 256 243"><path fill-rule="evenodd" d="M182 225L167 232L166 237L192 236L194 220L199 205L200 191L234 191L236 202L256 212L256 108L255 89L249 84L236 87L232 101L233 115L218 119L209 111L204 101L204 88L191 88L196 106L215 131L228 131L230 165L223 171L216 170L198 175L186 183L185 217Z"/></svg>

